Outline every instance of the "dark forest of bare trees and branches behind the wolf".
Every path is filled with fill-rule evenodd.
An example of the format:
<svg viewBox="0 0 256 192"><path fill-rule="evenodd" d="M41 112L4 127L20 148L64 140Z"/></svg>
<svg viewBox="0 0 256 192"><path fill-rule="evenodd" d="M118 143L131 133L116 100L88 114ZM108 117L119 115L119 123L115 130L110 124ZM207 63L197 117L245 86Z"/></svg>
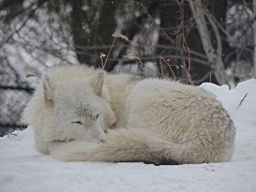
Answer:
<svg viewBox="0 0 256 192"><path fill-rule="evenodd" d="M22 110L55 65L234 88L253 76L254 19L247 0L1 0L0 136L26 127Z"/></svg>

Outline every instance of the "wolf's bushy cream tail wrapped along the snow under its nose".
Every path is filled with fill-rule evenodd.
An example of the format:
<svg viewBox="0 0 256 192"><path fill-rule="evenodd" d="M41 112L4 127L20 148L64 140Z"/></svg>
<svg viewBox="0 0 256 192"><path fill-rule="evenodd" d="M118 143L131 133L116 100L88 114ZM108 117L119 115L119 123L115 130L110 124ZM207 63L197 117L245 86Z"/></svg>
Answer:
<svg viewBox="0 0 256 192"><path fill-rule="evenodd" d="M205 147L203 140L196 138L184 143L173 143L147 130L118 129L109 132L105 142L70 141L53 145L50 150L51 154L65 161L141 161L152 164L225 161L226 151L221 151L221 148L218 151L209 143L209 147Z"/></svg>

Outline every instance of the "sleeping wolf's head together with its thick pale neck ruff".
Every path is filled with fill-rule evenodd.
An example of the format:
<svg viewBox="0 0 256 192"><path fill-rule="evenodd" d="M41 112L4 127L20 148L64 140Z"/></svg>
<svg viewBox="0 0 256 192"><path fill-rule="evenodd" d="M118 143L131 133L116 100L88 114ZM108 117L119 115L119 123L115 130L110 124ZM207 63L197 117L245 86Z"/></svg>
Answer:
<svg viewBox="0 0 256 192"><path fill-rule="evenodd" d="M40 152L48 154L51 141L104 139L116 118L103 79L103 71L78 66L55 68L44 76L24 111Z"/></svg>

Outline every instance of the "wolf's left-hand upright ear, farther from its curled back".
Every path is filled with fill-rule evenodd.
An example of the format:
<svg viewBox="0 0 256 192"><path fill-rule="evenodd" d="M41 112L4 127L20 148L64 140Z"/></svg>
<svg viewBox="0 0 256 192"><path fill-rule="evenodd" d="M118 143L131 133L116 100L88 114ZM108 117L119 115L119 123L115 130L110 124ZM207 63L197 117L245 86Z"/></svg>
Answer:
<svg viewBox="0 0 256 192"><path fill-rule="evenodd" d="M45 108L51 109L53 107L54 86L48 76L43 77L43 91Z"/></svg>

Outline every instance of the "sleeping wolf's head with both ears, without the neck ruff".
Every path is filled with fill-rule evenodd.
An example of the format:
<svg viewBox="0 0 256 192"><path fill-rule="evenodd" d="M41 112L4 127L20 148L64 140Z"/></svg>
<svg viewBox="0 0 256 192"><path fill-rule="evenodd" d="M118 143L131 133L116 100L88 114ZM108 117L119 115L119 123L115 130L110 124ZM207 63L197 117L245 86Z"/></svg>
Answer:
<svg viewBox="0 0 256 192"><path fill-rule="evenodd" d="M57 82L44 76L45 140L104 140L104 131L115 124L116 118L104 98L107 93L103 83L104 72L90 79Z"/></svg>

